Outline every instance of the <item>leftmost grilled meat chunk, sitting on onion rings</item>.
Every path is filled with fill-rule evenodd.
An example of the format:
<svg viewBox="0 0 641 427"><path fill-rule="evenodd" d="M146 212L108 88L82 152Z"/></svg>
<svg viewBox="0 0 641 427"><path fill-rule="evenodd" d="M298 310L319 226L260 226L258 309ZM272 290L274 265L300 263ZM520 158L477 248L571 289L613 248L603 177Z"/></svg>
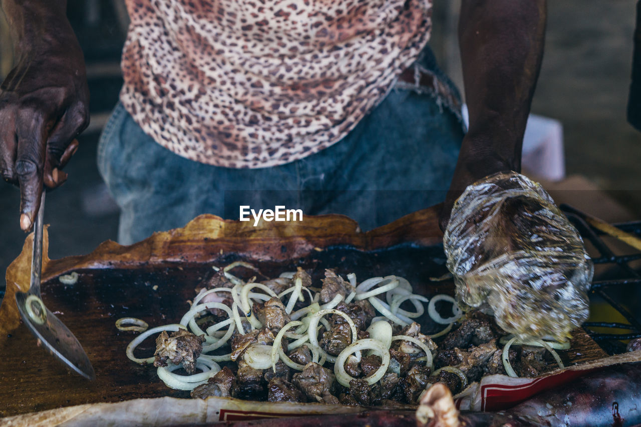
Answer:
<svg viewBox="0 0 641 427"><path fill-rule="evenodd" d="M154 366L167 366L167 360L174 365L182 362L185 371L193 374L196 371L196 359L203 351L203 341L204 335L197 337L184 329L172 332L171 336L162 331L156 338Z"/></svg>

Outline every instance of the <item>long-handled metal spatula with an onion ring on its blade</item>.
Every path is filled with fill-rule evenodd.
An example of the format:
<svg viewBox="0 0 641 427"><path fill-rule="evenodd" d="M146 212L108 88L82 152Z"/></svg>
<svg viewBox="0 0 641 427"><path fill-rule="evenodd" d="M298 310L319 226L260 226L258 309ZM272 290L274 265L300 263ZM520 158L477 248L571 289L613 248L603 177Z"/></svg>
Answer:
<svg viewBox="0 0 641 427"><path fill-rule="evenodd" d="M40 297L42 272L42 219L44 217L44 191L40 210L33 226L33 251L31 253L31 286L27 292L16 292L15 301L24 324L53 356L88 380L95 380L94 367L87 353L74 334L44 306Z"/></svg>

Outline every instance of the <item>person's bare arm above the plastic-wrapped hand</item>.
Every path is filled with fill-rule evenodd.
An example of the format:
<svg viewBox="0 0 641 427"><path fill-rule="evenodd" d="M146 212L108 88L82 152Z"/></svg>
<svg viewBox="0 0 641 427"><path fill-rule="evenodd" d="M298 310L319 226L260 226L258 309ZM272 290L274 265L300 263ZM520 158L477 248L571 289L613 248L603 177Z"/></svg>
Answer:
<svg viewBox="0 0 641 427"><path fill-rule="evenodd" d="M521 147L543 56L545 0L463 0L458 37L470 126L440 217L465 187L520 172Z"/></svg>

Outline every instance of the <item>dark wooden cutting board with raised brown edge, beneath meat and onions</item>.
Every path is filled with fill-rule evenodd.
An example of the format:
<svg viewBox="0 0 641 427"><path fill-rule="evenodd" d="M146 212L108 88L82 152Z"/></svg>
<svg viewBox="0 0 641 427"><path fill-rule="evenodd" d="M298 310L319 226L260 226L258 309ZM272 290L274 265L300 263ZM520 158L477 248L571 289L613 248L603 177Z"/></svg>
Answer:
<svg viewBox="0 0 641 427"><path fill-rule="evenodd" d="M304 217L302 222L223 221L202 215L178 230L155 233L132 246L104 242L85 256L60 260L47 257L45 233L42 298L83 344L96 371L87 381L37 346L21 324L15 290L29 287L31 235L6 273L7 290L0 306L0 417L81 405L171 396L188 392L167 388L156 369L131 362L127 344L137 335L115 327L116 319L138 317L150 327L178 322L188 310L199 283L212 265L247 260L270 277L302 266L322 276L326 267L342 274L356 272L359 281L372 276L404 276L422 294L452 293L451 281L431 281L445 269L439 206L407 215L387 226L361 232L342 215ZM239 269L238 274L253 272ZM74 285L63 285L62 274L78 272ZM424 324L428 332L438 326ZM595 360L603 351L576 331L569 362ZM147 340L137 356L153 355Z"/></svg>

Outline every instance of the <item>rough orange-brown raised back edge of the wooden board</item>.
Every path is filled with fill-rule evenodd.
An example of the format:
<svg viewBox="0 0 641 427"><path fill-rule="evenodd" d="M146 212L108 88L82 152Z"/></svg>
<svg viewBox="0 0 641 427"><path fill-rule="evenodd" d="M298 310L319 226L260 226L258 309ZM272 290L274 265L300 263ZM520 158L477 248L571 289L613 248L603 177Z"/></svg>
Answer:
<svg viewBox="0 0 641 427"><path fill-rule="evenodd" d="M390 224L360 231L358 222L345 215L304 215L301 222L253 222L199 215L183 228L154 233L141 242L122 246L107 240L88 255L49 258L48 226L44 230L42 281L76 269L136 268L142 264L215 262L235 253L271 261L301 258L312 251L347 245L372 251L398 244L433 246L443 234L438 228L441 205L410 213ZM6 294L0 306L0 345L20 324L15 292L29 289L33 233L24 240L21 254L6 271Z"/></svg>

